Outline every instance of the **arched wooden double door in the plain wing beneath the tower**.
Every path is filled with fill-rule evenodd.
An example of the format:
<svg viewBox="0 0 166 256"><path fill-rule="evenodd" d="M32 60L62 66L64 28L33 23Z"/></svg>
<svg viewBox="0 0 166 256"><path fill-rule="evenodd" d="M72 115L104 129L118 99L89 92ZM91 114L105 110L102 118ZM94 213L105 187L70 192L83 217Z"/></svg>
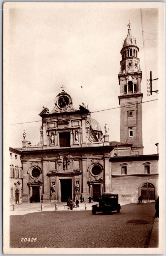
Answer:
<svg viewBox="0 0 166 256"><path fill-rule="evenodd" d="M141 187L142 200L155 200L155 188L151 183L144 183Z"/></svg>

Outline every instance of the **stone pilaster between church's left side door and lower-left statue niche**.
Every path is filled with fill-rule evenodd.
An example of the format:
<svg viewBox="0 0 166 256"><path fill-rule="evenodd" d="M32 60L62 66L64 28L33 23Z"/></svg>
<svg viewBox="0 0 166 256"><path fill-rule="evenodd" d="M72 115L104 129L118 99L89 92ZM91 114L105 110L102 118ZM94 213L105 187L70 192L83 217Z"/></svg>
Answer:
<svg viewBox="0 0 166 256"><path fill-rule="evenodd" d="M49 178L47 173L49 172L49 162L47 157L43 157L43 201L42 203L50 203L50 187L49 187Z"/></svg>

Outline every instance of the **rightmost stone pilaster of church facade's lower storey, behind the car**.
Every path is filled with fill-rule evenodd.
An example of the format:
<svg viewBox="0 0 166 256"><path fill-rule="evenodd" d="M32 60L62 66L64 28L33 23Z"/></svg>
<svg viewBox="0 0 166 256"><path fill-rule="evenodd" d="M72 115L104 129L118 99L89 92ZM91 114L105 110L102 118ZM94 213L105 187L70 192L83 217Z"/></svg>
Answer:
<svg viewBox="0 0 166 256"><path fill-rule="evenodd" d="M109 162L110 154L104 154L104 169L105 169L105 194L111 193L111 164Z"/></svg>

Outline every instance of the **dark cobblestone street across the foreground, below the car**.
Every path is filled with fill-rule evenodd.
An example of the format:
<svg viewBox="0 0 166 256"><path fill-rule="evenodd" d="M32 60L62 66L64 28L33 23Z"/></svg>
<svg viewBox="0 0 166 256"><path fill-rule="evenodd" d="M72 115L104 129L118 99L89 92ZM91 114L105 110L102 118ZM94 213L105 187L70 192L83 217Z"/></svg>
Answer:
<svg viewBox="0 0 166 256"><path fill-rule="evenodd" d="M150 203L126 204L111 215L41 211L10 216L10 247L148 247L154 214Z"/></svg>

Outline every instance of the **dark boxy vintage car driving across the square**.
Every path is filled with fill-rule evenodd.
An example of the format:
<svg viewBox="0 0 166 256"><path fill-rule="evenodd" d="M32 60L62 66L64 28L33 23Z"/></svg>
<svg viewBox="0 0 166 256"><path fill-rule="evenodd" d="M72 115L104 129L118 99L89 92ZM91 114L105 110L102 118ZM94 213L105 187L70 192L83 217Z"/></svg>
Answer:
<svg viewBox="0 0 166 256"><path fill-rule="evenodd" d="M113 211L120 212L121 206L118 204L118 195L117 194L103 194L99 198L98 204L92 205L92 214L96 212L104 212L110 214Z"/></svg>

